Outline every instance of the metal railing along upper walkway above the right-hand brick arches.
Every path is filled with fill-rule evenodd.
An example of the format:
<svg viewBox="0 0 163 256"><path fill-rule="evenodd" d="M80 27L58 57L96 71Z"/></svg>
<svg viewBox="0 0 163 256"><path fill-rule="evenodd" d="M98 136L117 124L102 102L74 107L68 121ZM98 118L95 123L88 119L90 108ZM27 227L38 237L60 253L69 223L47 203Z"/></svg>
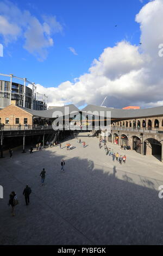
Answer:
<svg viewBox="0 0 163 256"><path fill-rule="evenodd" d="M111 126L111 130L119 131L133 131L133 132L147 132L147 133L163 133L163 127L125 127L125 126Z"/></svg>

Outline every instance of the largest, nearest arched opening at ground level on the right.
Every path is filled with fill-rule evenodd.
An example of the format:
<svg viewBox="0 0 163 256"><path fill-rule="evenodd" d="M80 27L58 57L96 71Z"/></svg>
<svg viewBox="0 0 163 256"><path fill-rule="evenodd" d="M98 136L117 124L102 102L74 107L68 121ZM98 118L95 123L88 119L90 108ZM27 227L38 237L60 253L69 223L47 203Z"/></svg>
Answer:
<svg viewBox="0 0 163 256"><path fill-rule="evenodd" d="M144 142L144 155L153 155L161 161L161 148L161 143L156 139L146 139Z"/></svg>

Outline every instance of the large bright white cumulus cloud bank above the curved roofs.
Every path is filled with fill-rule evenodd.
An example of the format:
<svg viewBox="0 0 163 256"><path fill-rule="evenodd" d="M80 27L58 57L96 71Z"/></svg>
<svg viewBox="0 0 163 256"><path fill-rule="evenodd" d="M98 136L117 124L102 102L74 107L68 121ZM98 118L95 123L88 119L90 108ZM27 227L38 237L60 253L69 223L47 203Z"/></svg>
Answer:
<svg viewBox="0 0 163 256"><path fill-rule="evenodd" d="M159 45L162 34L163 1L154 0L144 5L135 21L140 24L142 45L118 42L105 48L94 59L88 72L74 80L61 83L57 88L38 90L48 95L49 105L74 103L105 105L122 108L127 105L153 107L162 101L162 65Z"/></svg>

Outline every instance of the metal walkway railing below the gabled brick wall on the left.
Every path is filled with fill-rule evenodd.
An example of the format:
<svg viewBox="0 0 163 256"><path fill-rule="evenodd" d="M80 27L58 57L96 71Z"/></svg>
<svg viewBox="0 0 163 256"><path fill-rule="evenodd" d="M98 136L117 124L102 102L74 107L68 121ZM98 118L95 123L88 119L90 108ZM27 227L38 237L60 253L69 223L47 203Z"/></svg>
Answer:
<svg viewBox="0 0 163 256"><path fill-rule="evenodd" d="M4 125L0 131L51 130L52 125Z"/></svg>

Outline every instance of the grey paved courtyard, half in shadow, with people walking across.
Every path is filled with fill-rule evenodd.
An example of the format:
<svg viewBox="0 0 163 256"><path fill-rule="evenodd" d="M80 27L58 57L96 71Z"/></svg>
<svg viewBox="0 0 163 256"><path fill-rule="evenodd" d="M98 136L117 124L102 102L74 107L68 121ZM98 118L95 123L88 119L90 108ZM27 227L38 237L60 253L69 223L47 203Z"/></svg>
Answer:
<svg viewBox="0 0 163 256"><path fill-rule="evenodd" d="M96 137L80 133L86 147L70 139L57 147L0 159L0 245L162 245L163 164L155 157L121 150L126 164L112 162ZM66 150L70 142L74 149ZM61 160L65 172L61 173ZM40 172L46 169L41 186ZM22 195L32 188L30 205ZM17 193L15 217L8 207L9 194Z"/></svg>

